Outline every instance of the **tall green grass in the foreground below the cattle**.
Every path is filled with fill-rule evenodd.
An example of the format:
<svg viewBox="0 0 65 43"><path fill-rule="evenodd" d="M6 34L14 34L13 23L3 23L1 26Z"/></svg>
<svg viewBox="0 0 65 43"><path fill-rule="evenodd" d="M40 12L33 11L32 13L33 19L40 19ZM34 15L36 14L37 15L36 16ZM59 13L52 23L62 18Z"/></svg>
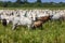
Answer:
<svg viewBox="0 0 65 43"><path fill-rule="evenodd" d="M0 43L65 43L65 22L47 22L43 30L28 30L25 27L11 29L0 24Z"/></svg>

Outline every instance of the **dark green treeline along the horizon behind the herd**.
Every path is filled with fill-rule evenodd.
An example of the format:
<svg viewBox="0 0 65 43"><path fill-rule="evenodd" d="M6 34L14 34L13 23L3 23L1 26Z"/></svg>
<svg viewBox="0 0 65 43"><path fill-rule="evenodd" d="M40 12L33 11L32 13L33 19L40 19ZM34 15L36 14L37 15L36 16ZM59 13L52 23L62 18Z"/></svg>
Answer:
<svg viewBox="0 0 65 43"><path fill-rule="evenodd" d="M16 0L11 1L0 1L0 8L65 8L65 2L41 2L37 0L36 2L28 2L28 0Z"/></svg>

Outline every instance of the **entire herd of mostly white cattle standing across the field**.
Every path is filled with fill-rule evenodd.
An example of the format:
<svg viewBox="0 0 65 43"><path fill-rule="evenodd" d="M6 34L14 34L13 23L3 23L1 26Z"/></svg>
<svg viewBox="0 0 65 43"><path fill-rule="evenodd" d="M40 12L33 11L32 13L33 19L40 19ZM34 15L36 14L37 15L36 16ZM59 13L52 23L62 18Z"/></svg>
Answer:
<svg viewBox="0 0 65 43"><path fill-rule="evenodd" d="M65 19L65 10L0 10L0 20L3 26L12 23L12 30L17 26L28 29L42 27L48 20Z"/></svg>

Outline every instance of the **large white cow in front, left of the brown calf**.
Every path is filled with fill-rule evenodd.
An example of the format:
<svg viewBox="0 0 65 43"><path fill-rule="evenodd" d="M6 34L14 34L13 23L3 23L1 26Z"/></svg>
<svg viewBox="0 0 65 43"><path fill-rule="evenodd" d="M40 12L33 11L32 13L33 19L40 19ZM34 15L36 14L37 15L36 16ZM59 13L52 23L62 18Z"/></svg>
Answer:
<svg viewBox="0 0 65 43"><path fill-rule="evenodd" d="M25 17L25 16L21 16L21 17L15 17L13 19L13 28L12 30L16 29L16 26L22 25L22 26L27 26L28 29L31 27L32 25L32 19Z"/></svg>

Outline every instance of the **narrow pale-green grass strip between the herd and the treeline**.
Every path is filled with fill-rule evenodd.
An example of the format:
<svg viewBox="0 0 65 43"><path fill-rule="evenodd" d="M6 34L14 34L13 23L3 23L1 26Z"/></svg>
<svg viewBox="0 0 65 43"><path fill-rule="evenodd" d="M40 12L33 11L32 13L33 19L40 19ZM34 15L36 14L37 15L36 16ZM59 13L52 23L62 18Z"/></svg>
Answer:
<svg viewBox="0 0 65 43"><path fill-rule="evenodd" d="M6 10L6 9L9 9L9 10L16 10L16 9L22 9L22 10L35 10L35 9L40 9L40 10L44 10L44 9L50 9L50 10L64 10L65 8L0 8L0 10Z"/></svg>

